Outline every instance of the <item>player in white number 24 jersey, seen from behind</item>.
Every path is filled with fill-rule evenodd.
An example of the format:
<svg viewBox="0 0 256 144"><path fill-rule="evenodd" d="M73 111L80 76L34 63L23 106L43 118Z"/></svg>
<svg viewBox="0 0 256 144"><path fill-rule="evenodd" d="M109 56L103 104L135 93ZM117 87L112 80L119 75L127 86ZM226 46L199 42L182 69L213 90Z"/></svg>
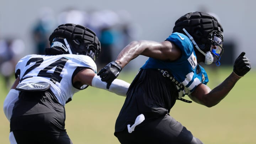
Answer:
<svg viewBox="0 0 256 144"><path fill-rule="evenodd" d="M4 101L11 144L72 144L64 106L88 86L126 96L129 83L117 79L106 89L97 76L95 59L101 47L89 28L60 25L49 41L47 55L27 55L16 65L16 81Z"/></svg>

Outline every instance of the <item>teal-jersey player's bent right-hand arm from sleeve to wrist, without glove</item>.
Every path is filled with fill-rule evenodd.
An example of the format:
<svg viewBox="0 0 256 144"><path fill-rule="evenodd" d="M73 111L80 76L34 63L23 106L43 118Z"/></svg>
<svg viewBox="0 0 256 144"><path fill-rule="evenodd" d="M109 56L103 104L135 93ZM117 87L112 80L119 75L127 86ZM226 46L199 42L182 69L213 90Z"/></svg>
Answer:
<svg viewBox="0 0 256 144"><path fill-rule="evenodd" d="M204 106L212 107L217 105L234 87L236 82L240 79L234 72L231 73L220 85L215 87L213 90L207 85L200 84L196 89L189 95L189 97Z"/></svg>

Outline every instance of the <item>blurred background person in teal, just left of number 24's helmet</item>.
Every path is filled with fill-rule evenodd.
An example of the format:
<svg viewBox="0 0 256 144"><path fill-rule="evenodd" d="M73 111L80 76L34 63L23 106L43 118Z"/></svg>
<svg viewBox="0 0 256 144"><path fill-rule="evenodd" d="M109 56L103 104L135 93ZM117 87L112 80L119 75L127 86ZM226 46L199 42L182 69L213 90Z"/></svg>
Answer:
<svg viewBox="0 0 256 144"><path fill-rule="evenodd" d="M45 49L49 48L48 38L56 27L54 12L49 7L39 10L39 18L32 29L33 42L36 45L36 54L45 54Z"/></svg>

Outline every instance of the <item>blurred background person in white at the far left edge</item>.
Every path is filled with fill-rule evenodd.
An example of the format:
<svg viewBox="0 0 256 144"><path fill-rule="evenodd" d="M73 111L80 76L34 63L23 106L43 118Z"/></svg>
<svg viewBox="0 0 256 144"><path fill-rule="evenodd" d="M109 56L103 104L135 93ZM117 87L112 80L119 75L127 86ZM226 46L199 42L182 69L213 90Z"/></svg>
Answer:
<svg viewBox="0 0 256 144"><path fill-rule="evenodd" d="M6 89L10 89L15 65L22 57L25 43L20 38L0 39L0 73L4 77Z"/></svg>

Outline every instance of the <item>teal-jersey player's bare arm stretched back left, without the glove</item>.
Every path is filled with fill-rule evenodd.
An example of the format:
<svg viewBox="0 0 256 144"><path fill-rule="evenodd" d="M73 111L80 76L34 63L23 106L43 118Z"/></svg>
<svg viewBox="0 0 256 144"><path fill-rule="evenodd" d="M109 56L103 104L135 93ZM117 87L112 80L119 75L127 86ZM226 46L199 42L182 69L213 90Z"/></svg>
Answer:
<svg viewBox="0 0 256 144"><path fill-rule="evenodd" d="M139 55L172 61L180 57L181 51L169 41L133 41L119 53L115 62L123 68Z"/></svg>

